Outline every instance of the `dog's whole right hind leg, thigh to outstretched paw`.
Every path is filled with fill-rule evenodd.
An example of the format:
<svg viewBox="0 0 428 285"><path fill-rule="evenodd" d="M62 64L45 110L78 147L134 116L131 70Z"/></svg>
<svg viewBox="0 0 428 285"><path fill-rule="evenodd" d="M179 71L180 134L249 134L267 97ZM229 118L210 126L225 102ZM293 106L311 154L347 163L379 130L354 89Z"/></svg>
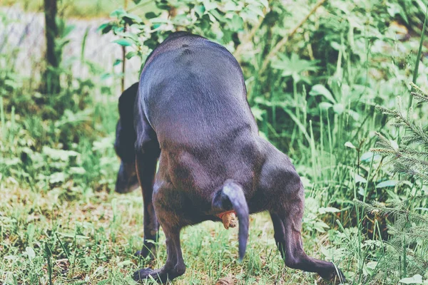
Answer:
<svg viewBox="0 0 428 285"><path fill-rule="evenodd" d="M275 230L275 242L285 265L317 272L324 279L345 280L334 264L307 256L302 244L305 189L290 159L265 142L267 157L260 173L260 190L272 197L267 205Z"/></svg>

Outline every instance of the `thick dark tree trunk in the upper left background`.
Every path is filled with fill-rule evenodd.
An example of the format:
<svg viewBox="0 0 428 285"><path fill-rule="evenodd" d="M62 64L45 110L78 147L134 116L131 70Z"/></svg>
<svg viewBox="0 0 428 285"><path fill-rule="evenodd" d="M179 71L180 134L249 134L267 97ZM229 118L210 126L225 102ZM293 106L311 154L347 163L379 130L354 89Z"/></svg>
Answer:
<svg viewBox="0 0 428 285"><path fill-rule="evenodd" d="M56 14L58 13L57 0L44 0L44 13L46 23L46 71L44 72L41 89L44 93L58 93L60 91L59 63L61 51L56 48L58 38L58 26Z"/></svg>

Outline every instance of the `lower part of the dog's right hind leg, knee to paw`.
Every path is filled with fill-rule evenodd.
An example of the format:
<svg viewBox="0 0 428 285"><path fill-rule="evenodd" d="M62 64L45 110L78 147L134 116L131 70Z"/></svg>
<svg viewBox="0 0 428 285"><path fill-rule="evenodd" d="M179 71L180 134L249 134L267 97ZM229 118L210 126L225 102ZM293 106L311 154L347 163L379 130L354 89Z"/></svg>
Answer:
<svg viewBox="0 0 428 285"><path fill-rule="evenodd" d="M271 212L275 229L275 241L277 247L285 259L285 265L293 269L317 272L324 279L333 279L339 272L343 274L331 262L322 261L307 256L302 245L302 216L304 208L303 190L292 193L285 207L277 212Z"/></svg>

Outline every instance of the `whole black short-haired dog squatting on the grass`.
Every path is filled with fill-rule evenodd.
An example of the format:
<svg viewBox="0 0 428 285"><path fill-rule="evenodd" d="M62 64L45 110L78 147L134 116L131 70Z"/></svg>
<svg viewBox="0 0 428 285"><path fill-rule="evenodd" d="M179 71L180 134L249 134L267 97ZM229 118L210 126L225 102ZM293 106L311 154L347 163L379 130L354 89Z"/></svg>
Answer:
<svg viewBox="0 0 428 285"><path fill-rule="evenodd" d="M239 219L240 259L248 215L267 210L287 266L343 278L331 262L305 254L302 182L287 155L258 135L243 73L223 46L173 33L148 56L140 83L121 95L119 112L116 191L136 188L138 176L145 238L139 253L153 254L159 223L168 253L165 266L136 271L134 279L165 282L184 274L180 229L220 221L218 214L230 210Z"/></svg>

